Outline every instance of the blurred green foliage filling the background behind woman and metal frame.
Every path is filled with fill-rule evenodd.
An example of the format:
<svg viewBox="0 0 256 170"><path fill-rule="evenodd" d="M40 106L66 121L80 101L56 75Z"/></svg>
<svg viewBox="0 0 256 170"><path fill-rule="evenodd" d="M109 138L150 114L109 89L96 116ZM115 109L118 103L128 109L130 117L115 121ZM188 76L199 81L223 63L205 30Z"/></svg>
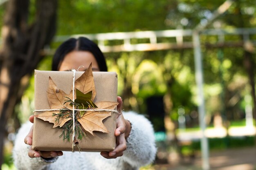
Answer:
<svg viewBox="0 0 256 170"><path fill-rule="evenodd" d="M56 35L193 29L211 17L213 11L223 2L224 0L59 0ZM0 6L1 18L5 7L6 4ZM31 0L30 11L29 17L33 20L35 0ZM255 27L255 11L254 0L236 0L223 15L209 24L207 29ZM227 36L225 39L240 40L241 37ZM255 37L252 39L255 40ZM218 41L217 37L204 35L201 36L201 40L211 44ZM162 38L160 41L173 40ZM59 44L53 42L50 48L56 49ZM225 120L231 122L229 124L245 118L245 96L250 95L251 87L243 65L243 52L242 47L218 49L203 47L202 49L204 94L209 125L213 124L213 116L220 113ZM162 97L161 99L168 100L163 103L170 106L164 114L171 118L176 128L177 110L181 106L185 110L187 127L198 126L193 49L135 51L105 55L109 71L116 71L119 75L118 93L124 98L126 110L147 114L147 99ZM45 56L37 69L50 70L51 60L52 55ZM255 62L255 53L252 55L252 61ZM34 109L34 77L31 77L30 82L21 104L16 106L16 112L19 113L22 123L27 121L31 110ZM131 91L128 96L124 95L124 91L127 90ZM234 97L237 101L231 103ZM159 123L161 121L159 119L154 121L156 130L162 126L162 123ZM231 140L227 137L227 140L230 146L240 146L240 139ZM212 139L210 146L214 148L216 144L227 140ZM247 142L250 145L254 143L251 138L248 140L243 138L241 141L246 141L245 145ZM194 150L198 149L198 146L199 144L195 142L190 148ZM6 148L4 167L12 167L11 149Z"/></svg>

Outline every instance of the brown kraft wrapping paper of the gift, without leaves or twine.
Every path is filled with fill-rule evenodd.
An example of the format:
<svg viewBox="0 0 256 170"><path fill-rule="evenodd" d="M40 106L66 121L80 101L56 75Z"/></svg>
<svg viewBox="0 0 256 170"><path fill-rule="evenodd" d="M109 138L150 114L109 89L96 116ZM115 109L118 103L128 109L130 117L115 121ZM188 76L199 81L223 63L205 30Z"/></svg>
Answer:
<svg viewBox="0 0 256 170"><path fill-rule="evenodd" d="M76 72L76 79L83 72ZM72 71L38 71L35 70L35 110L50 109L47 99L48 79L53 79L58 89L63 90L66 94L72 91ZM94 83L96 88L96 97L94 102L110 101L117 102L117 74L115 72L93 72ZM35 112L40 114L40 112ZM100 152L114 150L116 145L115 129L116 129L116 113L103 120L103 124L109 133L94 131L94 136L87 133L87 137L83 137L79 141L81 151ZM70 141L63 140L59 137L63 131L62 128L52 128L54 124L43 121L34 117L33 130L33 150L44 151L72 151L72 135ZM75 151L79 151L74 147Z"/></svg>

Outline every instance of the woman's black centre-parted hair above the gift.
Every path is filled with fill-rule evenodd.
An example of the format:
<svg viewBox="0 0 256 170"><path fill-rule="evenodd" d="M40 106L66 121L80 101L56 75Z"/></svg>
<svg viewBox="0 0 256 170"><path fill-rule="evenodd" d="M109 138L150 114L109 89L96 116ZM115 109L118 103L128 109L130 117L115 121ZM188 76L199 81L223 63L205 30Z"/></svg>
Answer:
<svg viewBox="0 0 256 170"><path fill-rule="evenodd" d="M79 37L78 39L70 38L58 47L53 57L52 71L58 71L67 53L70 53L74 50L90 51L94 55L98 63L99 70L108 71L105 57L99 49L99 47L97 46L97 44L95 44L94 42L85 37Z"/></svg>

